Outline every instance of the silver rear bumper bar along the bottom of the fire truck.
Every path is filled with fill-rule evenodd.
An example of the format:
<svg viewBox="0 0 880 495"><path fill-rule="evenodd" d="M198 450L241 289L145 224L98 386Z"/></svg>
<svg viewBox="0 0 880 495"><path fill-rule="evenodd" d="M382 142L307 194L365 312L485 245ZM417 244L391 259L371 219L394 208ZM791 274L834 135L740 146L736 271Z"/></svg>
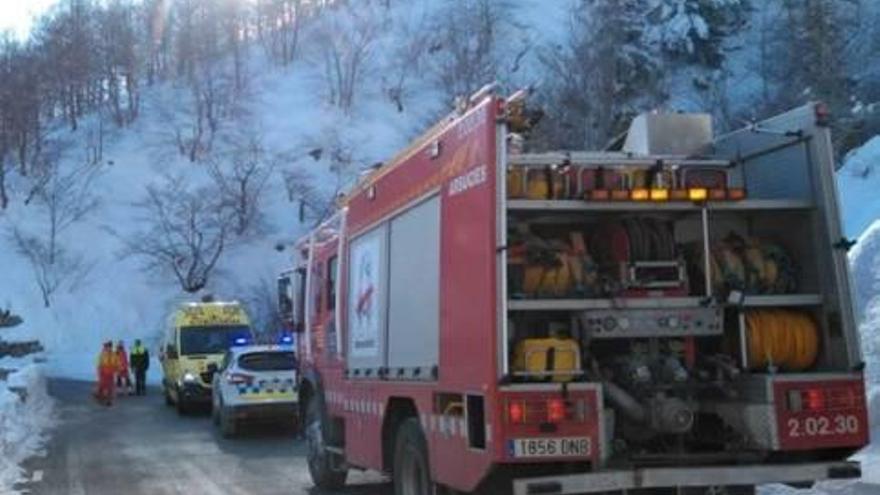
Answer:
<svg viewBox="0 0 880 495"><path fill-rule="evenodd" d="M637 488L799 483L858 478L860 475L861 469L856 462L644 468L518 479L513 482L513 493L514 495L564 495Z"/></svg>

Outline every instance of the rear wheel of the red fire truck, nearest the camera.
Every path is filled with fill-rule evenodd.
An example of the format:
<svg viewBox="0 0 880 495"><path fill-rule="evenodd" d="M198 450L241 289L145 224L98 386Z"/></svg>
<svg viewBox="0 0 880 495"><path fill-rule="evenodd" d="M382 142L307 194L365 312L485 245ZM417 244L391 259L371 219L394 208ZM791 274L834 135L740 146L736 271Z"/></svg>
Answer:
<svg viewBox="0 0 880 495"><path fill-rule="evenodd" d="M394 495L434 495L428 446L419 420L404 420L394 444Z"/></svg>

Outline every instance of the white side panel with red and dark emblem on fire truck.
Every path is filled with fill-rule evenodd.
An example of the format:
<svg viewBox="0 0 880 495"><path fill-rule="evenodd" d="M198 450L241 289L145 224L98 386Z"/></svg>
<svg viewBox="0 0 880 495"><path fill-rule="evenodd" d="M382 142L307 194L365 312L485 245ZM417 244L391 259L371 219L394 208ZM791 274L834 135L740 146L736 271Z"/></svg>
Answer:
<svg viewBox="0 0 880 495"><path fill-rule="evenodd" d="M348 367L378 370L385 366L388 292L388 224L351 243L348 279Z"/></svg>

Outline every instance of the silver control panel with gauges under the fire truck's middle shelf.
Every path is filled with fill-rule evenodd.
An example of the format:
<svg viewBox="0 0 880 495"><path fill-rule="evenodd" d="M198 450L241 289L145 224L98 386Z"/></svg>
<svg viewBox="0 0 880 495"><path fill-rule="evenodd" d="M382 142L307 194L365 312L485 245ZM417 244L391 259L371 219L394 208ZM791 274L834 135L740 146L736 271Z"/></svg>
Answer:
<svg viewBox="0 0 880 495"><path fill-rule="evenodd" d="M609 309L586 311L581 323L594 339L720 335L720 309Z"/></svg>

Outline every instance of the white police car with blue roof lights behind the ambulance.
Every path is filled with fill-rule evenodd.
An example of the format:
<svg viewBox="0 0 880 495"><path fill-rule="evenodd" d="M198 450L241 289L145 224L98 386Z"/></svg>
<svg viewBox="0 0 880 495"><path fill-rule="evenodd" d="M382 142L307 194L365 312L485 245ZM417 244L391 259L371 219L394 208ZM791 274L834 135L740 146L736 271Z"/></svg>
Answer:
<svg viewBox="0 0 880 495"><path fill-rule="evenodd" d="M212 417L223 436L243 421L277 420L295 425L296 356L291 346L232 347L214 373Z"/></svg>

